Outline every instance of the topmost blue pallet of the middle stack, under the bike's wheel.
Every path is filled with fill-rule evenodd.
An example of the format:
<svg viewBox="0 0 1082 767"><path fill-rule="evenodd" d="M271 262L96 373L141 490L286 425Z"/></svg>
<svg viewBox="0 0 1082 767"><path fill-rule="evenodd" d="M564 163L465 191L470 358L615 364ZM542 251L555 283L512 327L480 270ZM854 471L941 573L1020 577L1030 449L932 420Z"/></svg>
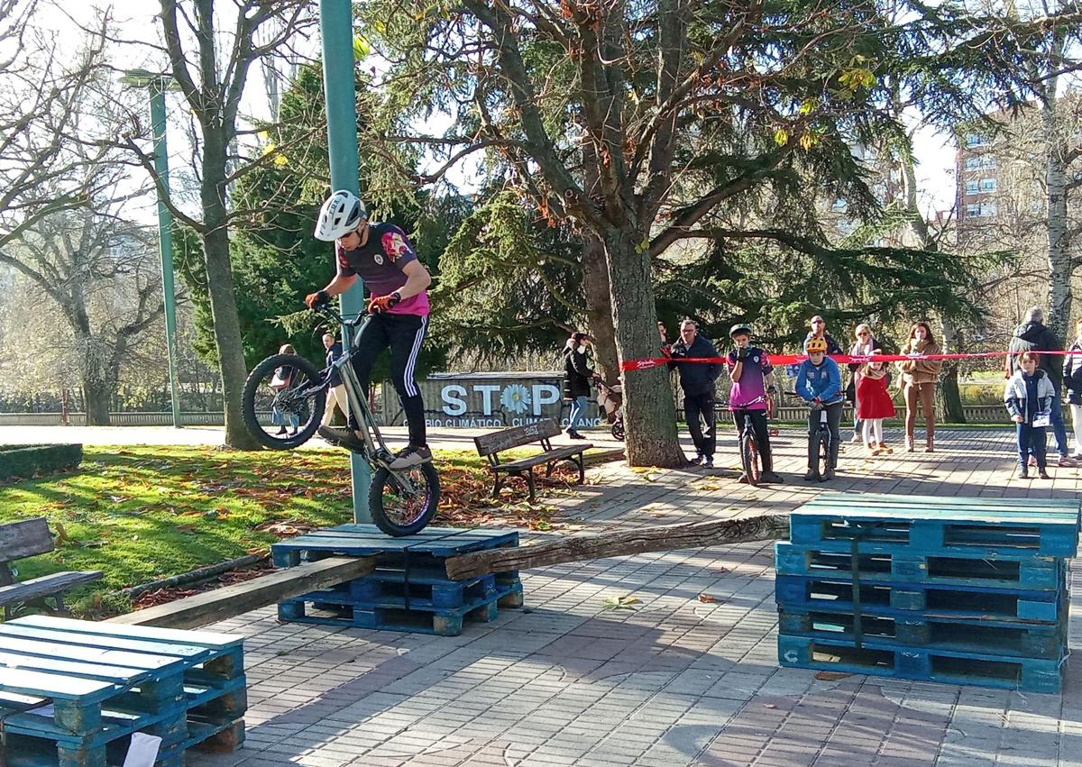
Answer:
<svg viewBox="0 0 1082 767"><path fill-rule="evenodd" d="M469 552L517 546L518 532L483 528L428 527L413 535L392 538L374 525L339 525L270 546L277 567L328 556L375 556L378 568L432 570L449 557Z"/></svg>

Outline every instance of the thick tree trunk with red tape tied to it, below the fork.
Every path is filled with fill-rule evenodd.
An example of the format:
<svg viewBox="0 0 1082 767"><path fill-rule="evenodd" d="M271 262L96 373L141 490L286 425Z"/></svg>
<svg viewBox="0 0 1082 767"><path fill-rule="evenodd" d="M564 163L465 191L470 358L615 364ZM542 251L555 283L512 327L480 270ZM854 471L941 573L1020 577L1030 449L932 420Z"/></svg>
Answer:
<svg viewBox="0 0 1082 767"><path fill-rule="evenodd" d="M612 325L620 362L657 356L658 316L654 278L645 249L636 248L631 227L605 236L612 297ZM687 459L676 438L676 408L665 368L623 374L628 463L632 466L682 466Z"/></svg>

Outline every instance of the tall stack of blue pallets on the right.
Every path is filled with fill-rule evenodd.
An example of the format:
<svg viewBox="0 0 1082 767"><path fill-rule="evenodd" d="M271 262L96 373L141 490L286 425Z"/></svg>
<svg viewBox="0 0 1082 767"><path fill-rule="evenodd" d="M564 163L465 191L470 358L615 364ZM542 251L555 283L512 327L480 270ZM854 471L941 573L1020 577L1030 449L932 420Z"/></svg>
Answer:
<svg viewBox="0 0 1082 767"><path fill-rule="evenodd" d="M782 665L1059 691L1078 501L826 493L790 520Z"/></svg>

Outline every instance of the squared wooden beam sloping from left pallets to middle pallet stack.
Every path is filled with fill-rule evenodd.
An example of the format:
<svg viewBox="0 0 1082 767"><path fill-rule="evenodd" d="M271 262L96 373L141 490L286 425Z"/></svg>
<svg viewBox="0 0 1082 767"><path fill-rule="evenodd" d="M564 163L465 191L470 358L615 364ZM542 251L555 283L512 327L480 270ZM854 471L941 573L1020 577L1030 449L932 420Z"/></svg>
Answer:
<svg viewBox="0 0 1082 767"><path fill-rule="evenodd" d="M375 557L329 557L110 620L131 625L195 629L362 578L374 569Z"/></svg>

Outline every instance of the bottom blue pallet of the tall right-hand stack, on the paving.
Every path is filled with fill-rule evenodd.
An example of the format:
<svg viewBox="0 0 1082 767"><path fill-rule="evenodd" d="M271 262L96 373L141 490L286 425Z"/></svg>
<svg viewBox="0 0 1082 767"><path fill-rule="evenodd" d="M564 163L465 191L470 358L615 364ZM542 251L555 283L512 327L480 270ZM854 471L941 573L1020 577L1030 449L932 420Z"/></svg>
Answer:
<svg viewBox="0 0 1082 767"><path fill-rule="evenodd" d="M799 669L1048 693L1060 691L1060 672L1066 662L1066 658L1003 658L919 647L899 648L874 642L857 649L844 640L784 634L778 635L778 660L783 666Z"/></svg>

